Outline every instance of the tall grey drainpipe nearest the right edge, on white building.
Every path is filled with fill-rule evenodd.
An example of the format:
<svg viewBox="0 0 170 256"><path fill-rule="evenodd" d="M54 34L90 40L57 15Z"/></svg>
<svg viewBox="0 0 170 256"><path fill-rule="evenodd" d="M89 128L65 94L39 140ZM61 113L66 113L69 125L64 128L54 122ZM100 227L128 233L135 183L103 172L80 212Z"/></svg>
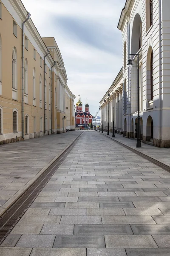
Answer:
<svg viewBox="0 0 170 256"><path fill-rule="evenodd" d="M161 0L159 0L159 108L160 108L160 140L162 140L162 35L161 35Z"/></svg>

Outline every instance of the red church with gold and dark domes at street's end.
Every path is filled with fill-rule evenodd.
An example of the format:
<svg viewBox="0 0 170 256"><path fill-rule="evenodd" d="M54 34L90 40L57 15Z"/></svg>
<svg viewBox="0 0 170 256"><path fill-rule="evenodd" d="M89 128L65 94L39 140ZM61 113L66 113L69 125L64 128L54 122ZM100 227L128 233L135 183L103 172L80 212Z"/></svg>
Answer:
<svg viewBox="0 0 170 256"><path fill-rule="evenodd" d="M88 100L85 104L85 111L82 111L82 102L79 95L79 100L76 103L76 111L75 111L75 127L79 128L88 128L92 123L93 116L89 112Z"/></svg>

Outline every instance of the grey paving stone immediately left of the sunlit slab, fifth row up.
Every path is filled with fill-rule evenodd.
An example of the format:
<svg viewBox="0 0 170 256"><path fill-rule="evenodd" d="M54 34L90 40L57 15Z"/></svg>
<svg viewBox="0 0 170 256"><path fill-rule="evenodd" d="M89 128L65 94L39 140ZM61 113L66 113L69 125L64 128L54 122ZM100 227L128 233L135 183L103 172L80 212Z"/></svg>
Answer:
<svg viewBox="0 0 170 256"><path fill-rule="evenodd" d="M99 209L87 209L87 215L96 215L96 216L100 216L100 215L125 215L125 212L123 209L118 208L118 209L109 209L109 208L99 208Z"/></svg>

